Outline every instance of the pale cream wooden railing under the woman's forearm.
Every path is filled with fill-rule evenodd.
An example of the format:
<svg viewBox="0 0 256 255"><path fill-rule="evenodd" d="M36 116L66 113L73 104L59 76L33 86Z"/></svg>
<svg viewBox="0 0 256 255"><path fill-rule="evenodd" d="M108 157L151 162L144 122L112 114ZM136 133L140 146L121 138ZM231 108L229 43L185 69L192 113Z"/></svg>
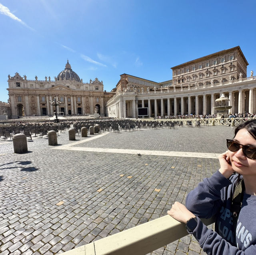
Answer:
<svg viewBox="0 0 256 255"><path fill-rule="evenodd" d="M203 219L206 225L214 218ZM145 255L188 235L185 224L170 215L62 253L62 255Z"/></svg>

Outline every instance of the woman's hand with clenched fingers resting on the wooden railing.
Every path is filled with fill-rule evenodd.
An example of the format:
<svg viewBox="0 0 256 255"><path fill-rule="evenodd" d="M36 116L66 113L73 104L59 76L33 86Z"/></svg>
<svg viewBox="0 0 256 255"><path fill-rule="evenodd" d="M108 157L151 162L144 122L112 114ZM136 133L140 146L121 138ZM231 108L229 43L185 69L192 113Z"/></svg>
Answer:
<svg viewBox="0 0 256 255"><path fill-rule="evenodd" d="M172 205L171 210L167 212L177 221L186 223L189 219L196 217L192 212L190 212L186 206L180 204L179 202L175 202Z"/></svg>

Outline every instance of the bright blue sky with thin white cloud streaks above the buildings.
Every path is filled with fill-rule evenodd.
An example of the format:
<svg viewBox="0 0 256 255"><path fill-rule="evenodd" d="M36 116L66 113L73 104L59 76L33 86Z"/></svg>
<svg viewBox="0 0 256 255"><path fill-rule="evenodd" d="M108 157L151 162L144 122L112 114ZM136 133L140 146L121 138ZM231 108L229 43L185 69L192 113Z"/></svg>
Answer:
<svg viewBox="0 0 256 255"><path fill-rule="evenodd" d="M8 74L54 80L67 59L111 91L128 73L160 82L171 67L239 45L256 75L255 0L0 0L0 101Z"/></svg>

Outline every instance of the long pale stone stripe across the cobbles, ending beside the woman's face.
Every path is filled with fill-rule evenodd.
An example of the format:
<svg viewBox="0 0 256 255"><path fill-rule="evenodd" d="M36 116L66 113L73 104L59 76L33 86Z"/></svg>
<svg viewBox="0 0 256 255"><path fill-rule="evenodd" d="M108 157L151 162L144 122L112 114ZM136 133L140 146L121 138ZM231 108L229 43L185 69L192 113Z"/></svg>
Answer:
<svg viewBox="0 0 256 255"><path fill-rule="evenodd" d="M161 151L161 150L127 150L127 149L112 149L112 148L93 148L93 147L70 147L62 145L54 150L78 150L90 152L109 152L109 153L122 153L122 154L140 154L155 155L155 156L171 156L171 157L186 157L186 158L218 158L217 153L204 153L204 152L180 152L180 151Z"/></svg>

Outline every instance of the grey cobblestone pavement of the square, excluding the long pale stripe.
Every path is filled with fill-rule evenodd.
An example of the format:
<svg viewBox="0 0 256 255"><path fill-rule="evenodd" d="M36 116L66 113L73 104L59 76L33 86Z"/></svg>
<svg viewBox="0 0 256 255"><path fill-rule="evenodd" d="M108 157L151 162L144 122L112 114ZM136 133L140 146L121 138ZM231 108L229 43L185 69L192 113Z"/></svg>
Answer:
<svg viewBox="0 0 256 255"><path fill-rule="evenodd" d="M76 136L78 142L62 132L58 144L64 146L33 138L26 154L14 154L12 142L1 140L0 254L62 253L164 216L219 167L216 158L72 151L66 145L203 156L224 152L233 132L226 126L158 128ZM205 253L187 235L152 254Z"/></svg>

